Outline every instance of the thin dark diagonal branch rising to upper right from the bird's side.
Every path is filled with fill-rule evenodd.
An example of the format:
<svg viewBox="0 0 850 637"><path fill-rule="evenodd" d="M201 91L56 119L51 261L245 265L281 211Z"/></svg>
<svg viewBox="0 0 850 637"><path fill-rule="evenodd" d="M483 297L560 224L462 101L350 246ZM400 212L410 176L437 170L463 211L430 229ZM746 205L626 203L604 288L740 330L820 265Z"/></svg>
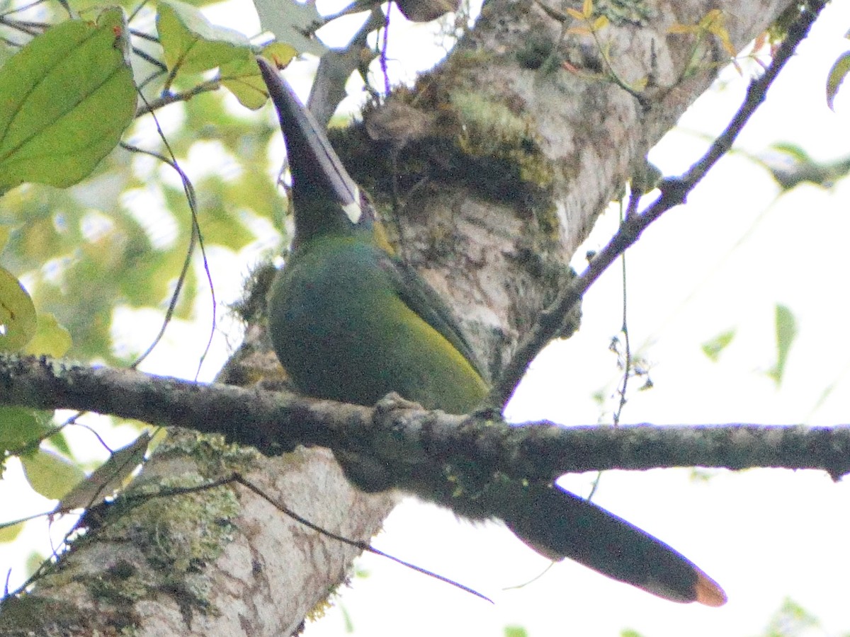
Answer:
<svg viewBox="0 0 850 637"><path fill-rule="evenodd" d="M664 180L660 184L661 194L658 199L642 213L627 217L608 245L605 245L604 249L593 257L581 276L573 279L570 285L561 292L558 299L541 313L534 329L519 344L513 358L503 369L500 378L493 386L490 396L487 398L488 405L501 407L507 403L508 398L511 397L519 381L525 375L525 370L530 361L558 334L558 330L564 323L564 317L568 316L575 305L581 301L581 297L584 296L590 286L608 269L611 263L615 262L618 256L638 240L643 230L648 228L664 212L684 203L685 198L700 182L700 179L705 177L711 167L717 163L717 160L728 152L728 149L732 148L735 138L738 137L758 106L762 104L768 93L768 88L774 83L779 71L791 59L797 45L806 37L824 5L823 0L809 0L806 7L801 11L800 17L788 30L785 41L776 50L768 69L764 71L761 77L751 82L744 103L741 104L726 130L711 144L706 155L681 177Z"/></svg>

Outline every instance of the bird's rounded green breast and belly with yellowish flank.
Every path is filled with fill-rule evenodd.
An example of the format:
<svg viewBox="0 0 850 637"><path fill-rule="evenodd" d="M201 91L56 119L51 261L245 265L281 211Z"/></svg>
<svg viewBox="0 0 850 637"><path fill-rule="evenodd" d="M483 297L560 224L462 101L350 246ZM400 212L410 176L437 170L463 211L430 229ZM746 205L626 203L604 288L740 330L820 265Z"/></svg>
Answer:
<svg viewBox="0 0 850 637"><path fill-rule="evenodd" d="M299 245L269 302L281 364L316 397L372 405L398 392L427 409L474 409L484 381L402 300L393 267L365 237L324 235Z"/></svg>

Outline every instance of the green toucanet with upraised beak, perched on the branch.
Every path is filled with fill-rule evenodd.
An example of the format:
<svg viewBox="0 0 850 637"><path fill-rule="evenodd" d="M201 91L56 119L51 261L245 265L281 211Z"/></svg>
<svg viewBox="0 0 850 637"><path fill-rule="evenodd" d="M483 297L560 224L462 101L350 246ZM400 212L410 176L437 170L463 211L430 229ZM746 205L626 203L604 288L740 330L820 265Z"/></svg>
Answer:
<svg viewBox="0 0 850 637"><path fill-rule="evenodd" d="M395 254L368 195L275 65L262 57L258 65L292 175L295 232L268 305L269 335L286 375L312 397L372 406L396 392L425 409L472 412L489 385L450 309ZM692 561L557 483L493 475L472 462L411 465L405 473L385 456L337 459L358 488L400 488L461 516L501 519L549 559L570 558L666 600L726 602Z"/></svg>

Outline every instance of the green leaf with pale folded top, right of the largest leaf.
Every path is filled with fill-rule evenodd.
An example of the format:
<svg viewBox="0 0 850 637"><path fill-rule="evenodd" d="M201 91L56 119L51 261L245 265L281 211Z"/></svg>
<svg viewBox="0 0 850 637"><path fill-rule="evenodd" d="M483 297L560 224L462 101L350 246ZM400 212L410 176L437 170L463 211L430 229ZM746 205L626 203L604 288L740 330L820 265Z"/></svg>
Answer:
<svg viewBox="0 0 850 637"><path fill-rule="evenodd" d="M162 0L156 16L165 62L172 73L201 73L253 60L251 42L239 31L210 23L201 11L179 0Z"/></svg>

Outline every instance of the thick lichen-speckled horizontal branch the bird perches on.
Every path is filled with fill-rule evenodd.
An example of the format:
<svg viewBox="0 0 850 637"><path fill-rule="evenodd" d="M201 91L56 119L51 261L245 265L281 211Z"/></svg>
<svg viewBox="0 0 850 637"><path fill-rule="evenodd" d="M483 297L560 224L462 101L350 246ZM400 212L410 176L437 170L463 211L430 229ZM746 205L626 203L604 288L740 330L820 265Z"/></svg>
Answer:
<svg viewBox="0 0 850 637"><path fill-rule="evenodd" d="M366 454L387 465L402 488L405 476L419 465L469 462L534 481L551 481L571 471L676 466L820 469L836 479L850 471L847 426L511 426L484 415L429 412L400 400L367 408L49 358L0 356L0 403L88 409L221 433L265 454L299 444Z"/></svg>

